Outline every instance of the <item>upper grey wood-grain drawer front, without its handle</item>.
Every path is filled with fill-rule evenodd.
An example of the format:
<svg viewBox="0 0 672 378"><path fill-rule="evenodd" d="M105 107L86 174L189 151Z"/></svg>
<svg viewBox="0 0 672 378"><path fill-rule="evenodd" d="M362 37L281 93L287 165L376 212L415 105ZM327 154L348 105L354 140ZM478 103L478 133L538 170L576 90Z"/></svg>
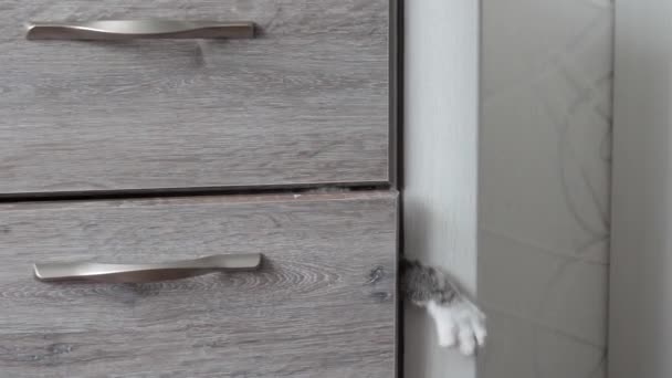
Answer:
<svg viewBox="0 0 672 378"><path fill-rule="evenodd" d="M0 195L380 183L390 0L0 7ZM252 21L249 40L28 41L28 21Z"/></svg>

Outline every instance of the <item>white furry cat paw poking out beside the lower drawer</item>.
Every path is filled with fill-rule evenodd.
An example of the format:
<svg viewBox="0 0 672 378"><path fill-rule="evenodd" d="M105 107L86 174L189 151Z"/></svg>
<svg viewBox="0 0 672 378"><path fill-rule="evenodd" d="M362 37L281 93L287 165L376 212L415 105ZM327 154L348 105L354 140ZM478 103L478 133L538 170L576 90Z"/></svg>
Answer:
<svg viewBox="0 0 672 378"><path fill-rule="evenodd" d="M485 345L485 315L466 298L458 297L450 304L430 301L427 309L437 325L440 346L459 346L462 354L471 356Z"/></svg>

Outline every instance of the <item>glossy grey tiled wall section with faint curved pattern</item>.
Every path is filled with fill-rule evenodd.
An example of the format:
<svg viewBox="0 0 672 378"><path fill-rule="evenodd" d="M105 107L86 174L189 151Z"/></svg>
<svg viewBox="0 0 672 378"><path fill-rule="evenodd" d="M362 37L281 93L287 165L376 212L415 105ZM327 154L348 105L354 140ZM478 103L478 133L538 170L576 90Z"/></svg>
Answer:
<svg viewBox="0 0 672 378"><path fill-rule="evenodd" d="M602 378L613 3L482 12L477 376Z"/></svg>

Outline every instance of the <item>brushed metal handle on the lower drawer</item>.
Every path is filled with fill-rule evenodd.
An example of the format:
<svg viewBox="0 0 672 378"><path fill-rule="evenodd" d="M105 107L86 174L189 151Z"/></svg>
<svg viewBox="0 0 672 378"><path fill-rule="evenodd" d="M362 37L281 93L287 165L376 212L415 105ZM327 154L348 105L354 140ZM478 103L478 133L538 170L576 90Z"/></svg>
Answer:
<svg viewBox="0 0 672 378"><path fill-rule="evenodd" d="M44 282L147 283L187 279L223 271L256 270L261 266L261 253L214 254L195 260L154 264L38 263L33 265L33 270L35 277Z"/></svg>

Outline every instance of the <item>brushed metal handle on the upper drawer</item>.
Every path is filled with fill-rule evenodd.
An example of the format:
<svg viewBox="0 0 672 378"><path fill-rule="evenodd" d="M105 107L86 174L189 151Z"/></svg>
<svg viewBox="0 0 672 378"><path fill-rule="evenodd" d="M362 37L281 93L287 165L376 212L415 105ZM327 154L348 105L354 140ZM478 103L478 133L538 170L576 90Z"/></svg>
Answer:
<svg viewBox="0 0 672 378"><path fill-rule="evenodd" d="M136 39L251 39L254 22L99 20L30 22L29 40L126 41Z"/></svg>

